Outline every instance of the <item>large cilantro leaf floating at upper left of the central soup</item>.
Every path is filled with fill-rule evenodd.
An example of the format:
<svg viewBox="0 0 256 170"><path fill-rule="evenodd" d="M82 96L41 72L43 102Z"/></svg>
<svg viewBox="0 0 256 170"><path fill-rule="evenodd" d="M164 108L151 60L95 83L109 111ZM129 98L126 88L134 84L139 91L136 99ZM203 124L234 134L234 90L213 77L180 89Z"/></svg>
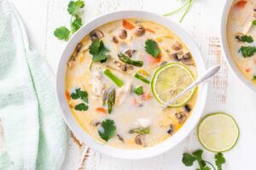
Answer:
<svg viewBox="0 0 256 170"><path fill-rule="evenodd" d="M106 61L108 58L108 48L105 48L104 43L100 40L92 42L89 47L90 54L93 55L92 60L96 61Z"/></svg>

